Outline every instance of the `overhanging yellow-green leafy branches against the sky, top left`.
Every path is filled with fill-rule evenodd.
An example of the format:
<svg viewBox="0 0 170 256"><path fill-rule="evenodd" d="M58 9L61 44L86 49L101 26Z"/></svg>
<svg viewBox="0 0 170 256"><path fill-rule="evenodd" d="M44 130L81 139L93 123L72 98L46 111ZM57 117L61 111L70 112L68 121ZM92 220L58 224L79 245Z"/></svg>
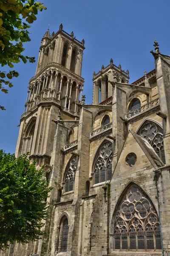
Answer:
<svg viewBox="0 0 170 256"><path fill-rule="evenodd" d="M38 10L43 9L46 7L36 0L0 0L0 64L2 67L8 65L13 68L13 63L18 63L20 60L24 63L27 59L32 63L35 62L34 57L22 55L23 43L31 41L28 32L29 24L37 19L35 15ZM15 70L8 73L0 71L0 90L8 93L6 85L12 87L13 84L6 79L17 76L19 73ZM3 106L0 108L5 110Z"/></svg>

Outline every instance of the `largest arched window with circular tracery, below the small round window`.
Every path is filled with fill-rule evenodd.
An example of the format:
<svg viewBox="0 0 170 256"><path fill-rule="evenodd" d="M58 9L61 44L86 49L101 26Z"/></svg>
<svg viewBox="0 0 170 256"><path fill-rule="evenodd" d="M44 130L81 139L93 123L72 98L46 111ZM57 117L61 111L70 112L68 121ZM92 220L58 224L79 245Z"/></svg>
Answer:
<svg viewBox="0 0 170 256"><path fill-rule="evenodd" d="M113 215L114 250L161 250L159 218L146 193L133 184Z"/></svg>

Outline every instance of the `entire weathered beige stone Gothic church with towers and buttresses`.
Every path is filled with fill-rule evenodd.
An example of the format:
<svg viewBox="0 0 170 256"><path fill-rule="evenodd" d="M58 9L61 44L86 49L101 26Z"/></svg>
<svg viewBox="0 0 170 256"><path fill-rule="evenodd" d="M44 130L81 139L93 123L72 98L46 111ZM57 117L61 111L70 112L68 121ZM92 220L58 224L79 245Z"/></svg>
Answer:
<svg viewBox="0 0 170 256"><path fill-rule="evenodd" d="M170 256L170 57L155 42L156 69L132 84L111 59L87 105L84 49L62 24L42 38L16 156L45 165L45 234L0 256Z"/></svg>

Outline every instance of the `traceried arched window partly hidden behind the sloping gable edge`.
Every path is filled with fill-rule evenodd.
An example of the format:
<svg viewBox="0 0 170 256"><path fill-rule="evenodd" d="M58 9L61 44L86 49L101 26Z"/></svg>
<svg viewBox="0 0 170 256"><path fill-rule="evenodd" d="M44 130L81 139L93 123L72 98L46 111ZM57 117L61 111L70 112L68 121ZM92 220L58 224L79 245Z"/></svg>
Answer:
<svg viewBox="0 0 170 256"><path fill-rule="evenodd" d="M154 122L147 120L141 126L138 134L144 137L155 150L156 154L165 162L163 129Z"/></svg>

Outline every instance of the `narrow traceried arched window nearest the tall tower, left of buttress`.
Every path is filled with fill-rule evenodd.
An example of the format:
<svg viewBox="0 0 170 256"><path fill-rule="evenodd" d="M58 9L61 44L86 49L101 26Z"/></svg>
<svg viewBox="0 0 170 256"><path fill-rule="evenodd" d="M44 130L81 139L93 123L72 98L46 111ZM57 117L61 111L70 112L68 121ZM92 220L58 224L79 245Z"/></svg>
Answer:
<svg viewBox="0 0 170 256"><path fill-rule="evenodd" d="M77 169L77 161L77 156L73 156L67 164L64 178L65 192L74 190L74 177Z"/></svg>

